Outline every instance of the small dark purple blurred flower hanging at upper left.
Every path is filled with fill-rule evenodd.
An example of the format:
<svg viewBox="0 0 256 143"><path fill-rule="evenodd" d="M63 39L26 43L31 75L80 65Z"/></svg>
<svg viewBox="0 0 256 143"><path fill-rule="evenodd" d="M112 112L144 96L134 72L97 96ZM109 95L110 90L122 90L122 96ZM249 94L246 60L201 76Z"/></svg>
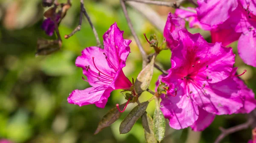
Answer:
<svg viewBox="0 0 256 143"><path fill-rule="evenodd" d="M55 18L57 23L59 22L60 18L61 18L60 14L57 14ZM52 36L55 31L55 25L53 20L50 17L48 17L42 23L41 28L45 31L47 35Z"/></svg>

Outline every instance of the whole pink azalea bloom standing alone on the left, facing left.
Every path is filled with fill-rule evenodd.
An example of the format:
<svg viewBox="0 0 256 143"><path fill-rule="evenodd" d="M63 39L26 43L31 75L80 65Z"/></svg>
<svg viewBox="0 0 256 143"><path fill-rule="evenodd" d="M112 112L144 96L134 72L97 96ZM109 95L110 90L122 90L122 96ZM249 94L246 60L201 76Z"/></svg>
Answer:
<svg viewBox="0 0 256 143"><path fill-rule="evenodd" d="M83 69L92 87L74 90L67 101L79 106L95 104L104 108L111 91L129 90L131 81L124 75L122 68L130 53L131 40L123 39L123 32L114 23L103 35L104 49L88 47L76 59L76 66Z"/></svg>

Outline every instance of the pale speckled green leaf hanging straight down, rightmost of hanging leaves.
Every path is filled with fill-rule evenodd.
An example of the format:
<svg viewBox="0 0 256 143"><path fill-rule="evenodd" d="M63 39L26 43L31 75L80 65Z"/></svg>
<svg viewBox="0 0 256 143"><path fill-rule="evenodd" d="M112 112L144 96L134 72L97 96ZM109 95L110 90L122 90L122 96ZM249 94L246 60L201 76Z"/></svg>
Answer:
<svg viewBox="0 0 256 143"><path fill-rule="evenodd" d="M163 112L159 107L159 98L155 97L156 109L154 111L153 123L154 123L154 135L157 138L157 141L161 142L164 138L166 122L163 116Z"/></svg>

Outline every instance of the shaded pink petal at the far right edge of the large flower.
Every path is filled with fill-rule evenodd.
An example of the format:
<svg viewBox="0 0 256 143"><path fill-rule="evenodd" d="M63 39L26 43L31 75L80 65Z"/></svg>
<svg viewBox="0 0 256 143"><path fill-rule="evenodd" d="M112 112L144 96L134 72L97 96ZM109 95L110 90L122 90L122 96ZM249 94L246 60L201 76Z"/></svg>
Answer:
<svg viewBox="0 0 256 143"><path fill-rule="evenodd" d="M236 81L236 83L239 84L239 88L241 88L238 94L243 101L243 107L241 107L241 109L239 109L236 113L250 113L256 108L256 100L253 90L247 88L241 79L233 77L233 80Z"/></svg>

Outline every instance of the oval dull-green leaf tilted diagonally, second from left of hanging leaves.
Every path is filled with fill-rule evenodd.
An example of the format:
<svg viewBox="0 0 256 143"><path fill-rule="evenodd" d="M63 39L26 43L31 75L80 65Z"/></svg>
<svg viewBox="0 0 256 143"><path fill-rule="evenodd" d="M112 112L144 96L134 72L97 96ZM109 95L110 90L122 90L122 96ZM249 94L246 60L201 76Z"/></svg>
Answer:
<svg viewBox="0 0 256 143"><path fill-rule="evenodd" d="M136 121L144 114L148 107L148 101L145 101L131 110L131 112L125 117L119 127L120 134L128 133Z"/></svg>

